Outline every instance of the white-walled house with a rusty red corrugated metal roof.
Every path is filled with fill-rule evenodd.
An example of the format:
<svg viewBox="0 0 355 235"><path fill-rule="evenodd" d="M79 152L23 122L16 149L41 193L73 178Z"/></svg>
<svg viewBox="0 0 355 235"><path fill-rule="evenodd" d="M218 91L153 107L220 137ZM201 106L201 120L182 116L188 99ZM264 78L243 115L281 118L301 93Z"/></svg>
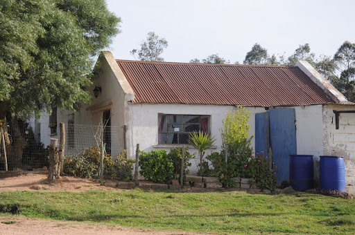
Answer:
<svg viewBox="0 0 355 235"><path fill-rule="evenodd" d="M106 51L99 63L98 78L88 88L92 103L77 113L58 111L55 123L110 120L120 133L110 146L128 149L130 157L136 144L143 151L171 149L187 144L189 131L201 129L216 136L209 153L221 150L226 111L245 106L250 135L255 133L252 146L268 152L271 144L278 182L288 180L289 154L311 154L315 163L322 155L345 156L347 190L354 193L355 105L308 62L293 67L137 62L116 60ZM55 137L58 126L51 122ZM41 140L48 142L48 135Z"/></svg>

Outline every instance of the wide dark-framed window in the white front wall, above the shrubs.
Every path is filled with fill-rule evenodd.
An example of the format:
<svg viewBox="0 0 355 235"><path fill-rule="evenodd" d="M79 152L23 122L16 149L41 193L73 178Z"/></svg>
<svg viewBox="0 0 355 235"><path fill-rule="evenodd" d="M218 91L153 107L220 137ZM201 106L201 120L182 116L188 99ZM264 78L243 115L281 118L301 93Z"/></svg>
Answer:
<svg viewBox="0 0 355 235"><path fill-rule="evenodd" d="M158 144L188 144L193 131L209 132L209 116L158 114Z"/></svg>

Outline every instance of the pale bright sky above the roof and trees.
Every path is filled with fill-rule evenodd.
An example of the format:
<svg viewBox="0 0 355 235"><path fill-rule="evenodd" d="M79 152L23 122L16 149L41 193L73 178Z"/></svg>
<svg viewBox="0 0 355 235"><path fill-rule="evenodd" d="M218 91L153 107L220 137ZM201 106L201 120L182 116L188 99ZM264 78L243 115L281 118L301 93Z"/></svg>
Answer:
<svg viewBox="0 0 355 235"><path fill-rule="evenodd" d="M243 62L255 43L270 55L286 55L309 43L315 55L333 56L344 41L355 43L355 1L342 0L106 0L121 17L110 48L116 59L135 59L148 32L168 41L166 62L208 55Z"/></svg>

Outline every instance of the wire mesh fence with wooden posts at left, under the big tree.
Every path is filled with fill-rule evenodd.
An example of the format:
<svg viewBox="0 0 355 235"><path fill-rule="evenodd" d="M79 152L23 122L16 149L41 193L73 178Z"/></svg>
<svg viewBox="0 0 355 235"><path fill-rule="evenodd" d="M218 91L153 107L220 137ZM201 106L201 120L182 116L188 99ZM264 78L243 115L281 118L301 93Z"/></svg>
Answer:
<svg viewBox="0 0 355 235"><path fill-rule="evenodd" d="M48 123L39 122L8 124L3 131L4 140L0 135L0 171L48 168L50 140L60 139L59 125L55 133L51 128ZM114 157L124 149L123 126L66 124L65 133L64 155L69 158L83 156L90 148L101 151L102 146L105 146L105 156Z"/></svg>

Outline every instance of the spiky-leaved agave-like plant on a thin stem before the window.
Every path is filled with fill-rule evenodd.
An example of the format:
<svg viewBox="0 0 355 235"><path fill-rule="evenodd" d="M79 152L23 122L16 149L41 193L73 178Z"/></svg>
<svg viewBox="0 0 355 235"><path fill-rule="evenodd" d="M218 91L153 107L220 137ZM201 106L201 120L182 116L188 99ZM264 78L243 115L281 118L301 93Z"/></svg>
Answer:
<svg viewBox="0 0 355 235"><path fill-rule="evenodd" d="M206 149L209 149L216 139L211 137L210 133L205 133L203 131L193 131L189 135L189 144L198 149L198 154L200 155L200 171L202 172L202 158L205 155Z"/></svg>

